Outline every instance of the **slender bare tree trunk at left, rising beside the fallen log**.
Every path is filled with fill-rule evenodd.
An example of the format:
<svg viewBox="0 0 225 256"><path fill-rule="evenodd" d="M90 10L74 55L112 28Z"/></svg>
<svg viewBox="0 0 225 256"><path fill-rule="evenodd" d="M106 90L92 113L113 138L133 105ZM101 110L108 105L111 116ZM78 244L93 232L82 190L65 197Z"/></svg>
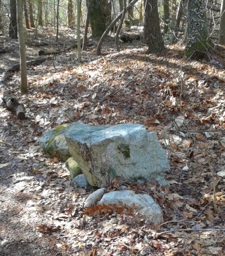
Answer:
<svg viewBox="0 0 225 256"><path fill-rule="evenodd" d="M19 52L21 66L21 95L27 94L27 77L26 77L26 51L24 44L24 32L22 27L22 0L17 0L17 25L19 34Z"/></svg>

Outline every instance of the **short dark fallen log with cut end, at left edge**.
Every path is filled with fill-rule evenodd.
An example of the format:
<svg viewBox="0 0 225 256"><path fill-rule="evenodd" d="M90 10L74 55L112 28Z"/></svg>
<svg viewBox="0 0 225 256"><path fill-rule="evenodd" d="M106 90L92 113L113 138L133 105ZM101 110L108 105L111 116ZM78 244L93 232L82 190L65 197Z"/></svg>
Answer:
<svg viewBox="0 0 225 256"><path fill-rule="evenodd" d="M2 90L3 104L6 105L7 109L15 111L18 119L24 120L26 118L24 105L22 103L17 103L17 100L5 91L5 88Z"/></svg>

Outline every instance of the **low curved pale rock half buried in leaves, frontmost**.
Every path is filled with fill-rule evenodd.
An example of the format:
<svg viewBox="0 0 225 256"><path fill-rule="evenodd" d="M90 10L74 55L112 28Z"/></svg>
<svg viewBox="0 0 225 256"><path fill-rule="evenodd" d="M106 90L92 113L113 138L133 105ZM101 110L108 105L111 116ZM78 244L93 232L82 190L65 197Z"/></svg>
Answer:
<svg viewBox="0 0 225 256"><path fill-rule="evenodd" d="M163 214L159 205L148 194L135 194L132 190L113 191L104 194L98 204L117 204L120 206L118 202L122 202L128 207L132 207L132 204L134 204L138 214L155 225L163 222Z"/></svg>

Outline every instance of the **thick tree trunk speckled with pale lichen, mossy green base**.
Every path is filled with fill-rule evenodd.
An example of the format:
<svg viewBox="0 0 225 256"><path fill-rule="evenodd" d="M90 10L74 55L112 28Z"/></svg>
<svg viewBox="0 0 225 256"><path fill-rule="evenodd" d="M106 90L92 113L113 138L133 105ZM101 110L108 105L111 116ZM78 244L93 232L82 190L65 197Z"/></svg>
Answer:
<svg viewBox="0 0 225 256"><path fill-rule="evenodd" d="M208 43L210 38L206 25L206 3L204 0L189 0L185 56L195 60L207 58Z"/></svg>

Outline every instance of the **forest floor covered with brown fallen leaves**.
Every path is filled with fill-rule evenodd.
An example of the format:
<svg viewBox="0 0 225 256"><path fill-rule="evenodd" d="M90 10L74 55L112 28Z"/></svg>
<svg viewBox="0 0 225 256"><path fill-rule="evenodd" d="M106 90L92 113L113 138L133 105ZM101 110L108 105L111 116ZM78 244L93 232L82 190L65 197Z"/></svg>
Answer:
<svg viewBox="0 0 225 256"><path fill-rule="evenodd" d="M65 28L61 44L51 29L29 34L27 60L74 41ZM71 50L29 67L27 96L20 96L20 72L6 83L26 119L0 106L0 256L225 255L224 60L189 61L179 44L146 54L139 41L121 42L118 53L109 38L96 56L93 43L80 65ZM1 76L19 62L19 46L7 35L0 46L13 49L0 56ZM93 189L72 186L64 162L43 155L38 138L77 120L156 131L169 157L170 187L129 186L161 206L165 222L157 230L136 214L87 214L83 203Z"/></svg>

